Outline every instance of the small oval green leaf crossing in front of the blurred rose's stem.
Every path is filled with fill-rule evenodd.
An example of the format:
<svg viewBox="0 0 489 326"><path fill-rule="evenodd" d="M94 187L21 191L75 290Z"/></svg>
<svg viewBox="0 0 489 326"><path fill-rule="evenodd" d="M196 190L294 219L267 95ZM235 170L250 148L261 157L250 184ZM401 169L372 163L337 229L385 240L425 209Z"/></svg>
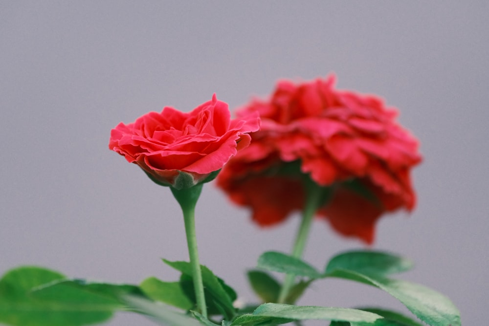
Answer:
<svg viewBox="0 0 489 326"><path fill-rule="evenodd" d="M258 258L258 268L309 277L311 279L322 277L322 275L307 262L275 251L263 253L260 258Z"/></svg>

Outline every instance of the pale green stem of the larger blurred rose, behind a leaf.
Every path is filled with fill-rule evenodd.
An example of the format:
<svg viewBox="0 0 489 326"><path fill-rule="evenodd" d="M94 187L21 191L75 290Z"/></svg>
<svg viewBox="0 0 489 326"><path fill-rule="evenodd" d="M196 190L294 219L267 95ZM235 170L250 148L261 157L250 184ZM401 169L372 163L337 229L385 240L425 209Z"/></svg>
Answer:
<svg viewBox="0 0 489 326"><path fill-rule="evenodd" d="M311 230L312 220L314 213L319 208L319 206L324 202L325 192L327 188L320 187L317 183L311 180L309 175L305 175L304 178L304 189L306 195L306 204L302 212L301 225L299 226L299 231L295 238L295 243L292 249L292 257L301 258L306 246L306 241ZM284 284L280 290L278 297L278 303L285 303L287 296L289 295L290 288L292 287L295 280L294 274L287 274L285 277Z"/></svg>

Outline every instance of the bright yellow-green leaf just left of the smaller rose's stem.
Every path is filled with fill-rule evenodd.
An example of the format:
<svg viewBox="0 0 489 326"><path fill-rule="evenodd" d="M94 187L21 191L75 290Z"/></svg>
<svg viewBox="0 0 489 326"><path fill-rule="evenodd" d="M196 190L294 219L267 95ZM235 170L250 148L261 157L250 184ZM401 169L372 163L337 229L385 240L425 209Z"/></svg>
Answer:
<svg viewBox="0 0 489 326"><path fill-rule="evenodd" d="M161 301L183 310L190 310L194 307L194 302L185 294L180 282L163 282L155 277L149 277L139 287L148 298L153 300Z"/></svg>

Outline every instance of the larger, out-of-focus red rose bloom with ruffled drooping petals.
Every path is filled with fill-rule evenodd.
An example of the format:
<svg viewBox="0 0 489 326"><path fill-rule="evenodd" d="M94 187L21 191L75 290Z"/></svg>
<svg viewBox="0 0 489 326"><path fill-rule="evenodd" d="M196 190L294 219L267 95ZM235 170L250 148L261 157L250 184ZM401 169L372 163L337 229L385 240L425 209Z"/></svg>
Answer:
<svg viewBox="0 0 489 326"><path fill-rule="evenodd" d="M336 90L334 81L281 81L270 100L239 109L238 116L259 112L262 126L222 169L218 185L266 226L303 208L299 174L309 174L332 190L317 215L340 234L372 243L384 212L415 205L410 169L421 161L418 142L380 99ZM299 164L297 173L284 172L289 162Z"/></svg>

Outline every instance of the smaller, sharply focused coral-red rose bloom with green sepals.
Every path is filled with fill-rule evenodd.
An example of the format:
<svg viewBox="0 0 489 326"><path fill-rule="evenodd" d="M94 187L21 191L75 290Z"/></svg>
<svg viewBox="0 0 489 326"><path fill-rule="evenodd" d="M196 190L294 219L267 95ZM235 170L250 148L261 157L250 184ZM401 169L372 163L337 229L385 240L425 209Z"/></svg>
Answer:
<svg viewBox="0 0 489 326"><path fill-rule="evenodd" d="M215 176L249 145L247 133L258 130L259 123L256 112L231 120L227 104L214 94L212 101L188 113L166 107L134 123L120 123L111 131L109 148L139 165L156 183L186 188Z"/></svg>

